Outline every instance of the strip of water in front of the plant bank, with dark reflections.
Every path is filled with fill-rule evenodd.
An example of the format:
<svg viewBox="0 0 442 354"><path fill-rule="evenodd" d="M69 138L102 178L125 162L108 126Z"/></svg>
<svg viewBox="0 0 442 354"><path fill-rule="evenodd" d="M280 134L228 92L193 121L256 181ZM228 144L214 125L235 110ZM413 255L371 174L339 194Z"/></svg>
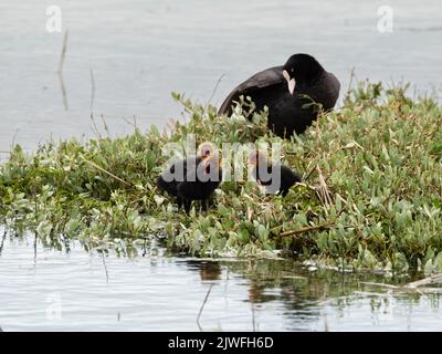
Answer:
<svg viewBox="0 0 442 354"><path fill-rule="evenodd" d="M3 236L0 247L4 331L434 331L442 320L439 293L375 284L401 278L292 260L180 258L148 241L116 252L75 241L66 252ZM63 300L59 322L44 317L53 294Z"/></svg>

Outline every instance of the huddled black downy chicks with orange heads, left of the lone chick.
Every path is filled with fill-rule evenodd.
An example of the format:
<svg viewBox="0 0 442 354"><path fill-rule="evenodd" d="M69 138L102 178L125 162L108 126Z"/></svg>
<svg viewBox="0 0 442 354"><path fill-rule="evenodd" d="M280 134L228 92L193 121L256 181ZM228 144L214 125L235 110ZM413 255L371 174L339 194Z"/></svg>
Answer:
<svg viewBox="0 0 442 354"><path fill-rule="evenodd" d="M212 152L211 145L203 145L198 156L176 162L157 179L157 186L176 197L178 208L183 206L186 212L193 200L208 201L221 183L222 169Z"/></svg>

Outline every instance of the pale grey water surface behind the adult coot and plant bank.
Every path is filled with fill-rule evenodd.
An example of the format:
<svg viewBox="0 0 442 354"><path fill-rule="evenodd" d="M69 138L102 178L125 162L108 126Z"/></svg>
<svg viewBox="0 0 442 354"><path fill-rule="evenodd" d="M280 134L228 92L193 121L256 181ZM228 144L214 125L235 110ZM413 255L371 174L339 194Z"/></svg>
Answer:
<svg viewBox="0 0 442 354"><path fill-rule="evenodd" d="M69 30L67 111L56 74L63 33L49 33L46 7ZM378 9L393 11L379 32ZM93 136L91 112L110 134L164 127L179 117L171 91L215 105L253 73L314 54L348 86L358 79L410 81L440 91L442 11L438 0L214 1L4 0L0 2L0 150L14 136L28 149L48 138ZM94 73L95 97L91 110ZM4 154L3 154L4 155Z"/></svg>

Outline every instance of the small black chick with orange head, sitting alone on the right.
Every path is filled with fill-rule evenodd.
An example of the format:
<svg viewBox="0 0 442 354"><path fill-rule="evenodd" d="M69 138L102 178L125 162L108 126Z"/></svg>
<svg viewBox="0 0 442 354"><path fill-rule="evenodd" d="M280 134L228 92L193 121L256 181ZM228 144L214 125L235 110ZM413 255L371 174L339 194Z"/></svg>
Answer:
<svg viewBox="0 0 442 354"><path fill-rule="evenodd" d="M265 154L260 150L250 154L249 164L253 166L253 178L264 186L269 194L281 192L285 197L288 189L302 180L301 176L288 166L270 164Z"/></svg>

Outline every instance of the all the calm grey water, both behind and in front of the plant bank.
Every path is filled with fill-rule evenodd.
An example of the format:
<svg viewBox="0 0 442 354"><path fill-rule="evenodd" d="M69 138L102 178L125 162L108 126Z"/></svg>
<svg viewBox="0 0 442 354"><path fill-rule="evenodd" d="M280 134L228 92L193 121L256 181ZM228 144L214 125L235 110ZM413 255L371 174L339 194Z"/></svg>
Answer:
<svg viewBox="0 0 442 354"><path fill-rule="evenodd" d="M50 4L60 6L69 30L65 102L56 74L63 34L45 30ZM383 4L393 10L391 33L377 28ZM200 102L213 95L218 105L235 84L296 52L314 54L344 90L355 67L358 79L406 80L440 94L441 10L438 0L1 1L0 159L12 140L32 150L49 138L93 136L92 113L114 136L131 131L127 121L162 127L180 112L171 91ZM288 261L201 262L161 248L103 258L80 244L69 253L34 249L32 238L2 244L6 331L198 330L209 289L204 331L441 330L436 295L399 294Z"/></svg>

